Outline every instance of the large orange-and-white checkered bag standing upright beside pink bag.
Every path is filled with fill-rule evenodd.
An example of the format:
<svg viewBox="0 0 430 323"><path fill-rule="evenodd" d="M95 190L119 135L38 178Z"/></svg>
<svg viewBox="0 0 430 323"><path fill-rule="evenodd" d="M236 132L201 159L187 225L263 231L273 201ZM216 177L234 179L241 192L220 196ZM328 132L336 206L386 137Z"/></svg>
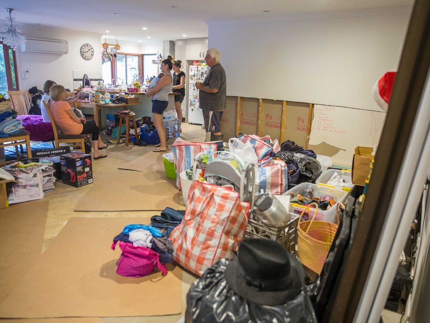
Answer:
<svg viewBox="0 0 430 323"><path fill-rule="evenodd" d="M239 193L194 181L187 210L170 235L174 260L201 276L213 263L230 258L243 239L248 223L249 203Z"/></svg>

